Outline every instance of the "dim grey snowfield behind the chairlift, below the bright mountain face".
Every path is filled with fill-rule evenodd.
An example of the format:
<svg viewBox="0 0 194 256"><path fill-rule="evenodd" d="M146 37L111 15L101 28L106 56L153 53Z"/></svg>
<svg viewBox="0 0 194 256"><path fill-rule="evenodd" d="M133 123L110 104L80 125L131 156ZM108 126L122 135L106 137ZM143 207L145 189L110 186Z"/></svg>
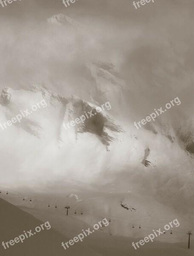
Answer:
<svg viewBox="0 0 194 256"><path fill-rule="evenodd" d="M15 197L12 194L1 195L2 198L9 202L16 204L21 209L35 215L37 218L52 217L55 221L55 225L58 231L61 232L60 223L57 221L69 222L72 224L66 224L66 230L63 231L65 236L73 236L74 233L79 232L79 228L83 226L90 227L91 224L96 224L103 218L107 218L109 225L107 227L101 227L100 231L112 236L123 236L133 238L144 238L154 230L164 230L164 226L169 222L177 219L178 222L173 224L170 231L173 231L171 236L170 231L166 231L157 238L157 241L163 242L183 242L187 241L185 233L187 230L194 228L191 218L187 218L184 215L177 214L172 208L155 201L153 197L145 195L137 195L136 193L125 193L117 195L101 195L95 198L88 198L87 200L78 200L78 196L69 195L63 197L62 195L56 200L49 200L51 204L41 202L41 199L23 201L22 198ZM42 195L42 198L44 196ZM44 198L45 201L46 198ZM55 208L55 204L57 208ZM68 218L66 216L67 210L65 205L69 205ZM76 212L76 214L75 214ZM83 212L83 215L81 215ZM141 229L139 226L141 225ZM134 228L133 228L134 226Z"/></svg>

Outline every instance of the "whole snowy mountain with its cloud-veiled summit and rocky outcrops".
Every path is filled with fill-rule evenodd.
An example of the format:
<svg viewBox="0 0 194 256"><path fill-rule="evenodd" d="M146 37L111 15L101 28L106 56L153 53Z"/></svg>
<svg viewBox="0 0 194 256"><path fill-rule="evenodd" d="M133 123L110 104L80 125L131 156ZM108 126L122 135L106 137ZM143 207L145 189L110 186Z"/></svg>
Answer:
<svg viewBox="0 0 194 256"><path fill-rule="evenodd" d="M130 74L127 80L120 62L115 64L105 54L98 29L91 34L82 28L62 14L45 20L46 38L38 44L43 61L35 54L34 74L22 86L1 84L1 124L41 100L46 102L46 107L21 122L0 128L2 183L38 186L40 181L62 183L62 187L81 183L107 193L150 192L163 204L171 202L177 211L186 209L192 215L193 203L188 206L185 198L193 196L194 120L184 95L180 93L180 106L136 129L134 122L165 105L177 92L144 86L139 73L132 73L133 62L123 67ZM23 49L18 49L20 55L30 58ZM106 102L111 108L98 112ZM94 116L64 127L90 111Z"/></svg>

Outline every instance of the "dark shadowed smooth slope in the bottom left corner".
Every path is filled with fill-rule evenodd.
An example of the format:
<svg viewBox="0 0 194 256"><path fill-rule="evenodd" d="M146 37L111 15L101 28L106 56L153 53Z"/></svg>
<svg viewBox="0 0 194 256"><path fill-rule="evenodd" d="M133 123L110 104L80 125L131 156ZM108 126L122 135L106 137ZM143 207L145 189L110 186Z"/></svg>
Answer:
<svg viewBox="0 0 194 256"><path fill-rule="evenodd" d="M6 249L3 245L0 247L0 255L3 256L19 256L19 255L28 255L28 256L53 256L64 255L64 248L61 247L61 242L68 241L68 236L64 236L59 233L57 230L52 227L50 228L48 223L44 227L44 230L41 230L40 233L34 233L36 227L41 227L43 224L42 221L33 217L27 212L22 211L18 207L15 207L12 204L2 200L0 198L0 218L3 220L1 222L1 241L7 242L23 234L23 230L26 230L26 235L28 238L23 239L22 243L17 241L17 244L8 243L9 248ZM46 220L45 222L47 222ZM45 223L44 222L44 223ZM47 228L46 228L47 227ZM28 231L31 230L32 234L29 235ZM25 231L24 231L25 232ZM21 236L23 238L23 236ZM92 255L99 256L98 253L87 248L80 244L75 244L71 250L65 251L66 255Z"/></svg>

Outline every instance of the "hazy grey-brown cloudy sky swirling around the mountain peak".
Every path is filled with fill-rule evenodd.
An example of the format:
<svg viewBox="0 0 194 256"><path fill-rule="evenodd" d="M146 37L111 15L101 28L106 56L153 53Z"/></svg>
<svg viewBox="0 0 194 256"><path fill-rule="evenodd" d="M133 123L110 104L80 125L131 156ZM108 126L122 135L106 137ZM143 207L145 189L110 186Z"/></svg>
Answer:
<svg viewBox="0 0 194 256"><path fill-rule="evenodd" d="M71 34L67 42L51 31L46 19L58 13L83 24L84 36ZM105 61L122 73L137 114L180 95L182 109L190 108L193 14L192 0L156 0L139 9L131 0L79 0L68 8L62 0L18 0L0 6L0 87L52 81L65 93L66 80L76 92L80 73L87 76L84 65Z"/></svg>

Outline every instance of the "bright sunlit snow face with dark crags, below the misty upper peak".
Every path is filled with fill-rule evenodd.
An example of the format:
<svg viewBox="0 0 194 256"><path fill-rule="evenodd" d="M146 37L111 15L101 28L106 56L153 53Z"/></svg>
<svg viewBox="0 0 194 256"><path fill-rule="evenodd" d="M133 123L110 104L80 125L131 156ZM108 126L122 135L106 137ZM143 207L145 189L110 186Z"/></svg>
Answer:
<svg viewBox="0 0 194 256"><path fill-rule="evenodd" d="M107 69L118 77L110 66ZM97 83L96 88L99 88ZM116 94L122 90L116 86ZM116 100L110 89L104 99L109 95ZM2 123L42 99L47 105L20 123L0 131L1 151L5 155L2 183L13 184L18 178L21 185L37 179L70 183L83 180L86 186L94 184L95 189L106 185L109 188L111 183L115 183L115 189L122 192L127 192L130 187L141 191L151 188L155 197L165 204L171 201L168 194L174 189L177 198L171 204L178 209L180 200L186 206L185 198L190 197L188 193L194 167L192 151L187 150L192 142L191 132L188 130L190 135L183 143L180 139L185 135L180 129L181 122L176 115L169 121L165 114L162 119L151 123L156 132L146 127L137 130L133 118L125 120L118 117L114 102L110 101L110 110L105 108L97 113L96 108L101 106L101 102L93 99L93 93L90 96L89 102L80 97L54 93L46 86L35 85L31 90L5 87L0 97ZM97 114L69 129L64 128L63 123L69 123L91 110ZM175 127L176 120L179 126ZM16 172L12 172L15 169ZM10 173L13 173L11 177ZM173 184L176 184L175 188Z"/></svg>

